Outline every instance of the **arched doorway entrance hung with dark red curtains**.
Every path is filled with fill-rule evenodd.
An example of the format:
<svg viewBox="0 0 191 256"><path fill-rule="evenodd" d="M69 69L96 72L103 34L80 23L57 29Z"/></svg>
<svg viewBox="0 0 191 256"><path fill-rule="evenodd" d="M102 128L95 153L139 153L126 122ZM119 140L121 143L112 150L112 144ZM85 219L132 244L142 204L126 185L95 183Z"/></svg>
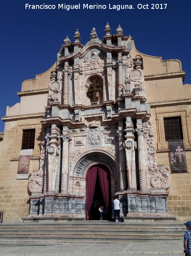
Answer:
<svg viewBox="0 0 191 256"><path fill-rule="evenodd" d="M100 205L104 206L104 220L110 218L111 178L104 165L89 168L86 180L86 220L100 220Z"/></svg>

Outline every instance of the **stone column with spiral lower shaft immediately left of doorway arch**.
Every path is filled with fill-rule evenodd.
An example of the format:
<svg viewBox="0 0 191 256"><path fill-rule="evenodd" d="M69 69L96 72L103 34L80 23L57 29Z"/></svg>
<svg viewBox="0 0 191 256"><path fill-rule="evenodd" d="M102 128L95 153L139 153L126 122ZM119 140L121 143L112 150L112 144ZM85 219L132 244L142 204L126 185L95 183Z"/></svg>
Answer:
<svg viewBox="0 0 191 256"><path fill-rule="evenodd" d="M62 154L61 192L66 192L68 191L68 167L69 167L68 143L71 140L71 136L68 134L63 134L62 139L63 139L63 154Z"/></svg>

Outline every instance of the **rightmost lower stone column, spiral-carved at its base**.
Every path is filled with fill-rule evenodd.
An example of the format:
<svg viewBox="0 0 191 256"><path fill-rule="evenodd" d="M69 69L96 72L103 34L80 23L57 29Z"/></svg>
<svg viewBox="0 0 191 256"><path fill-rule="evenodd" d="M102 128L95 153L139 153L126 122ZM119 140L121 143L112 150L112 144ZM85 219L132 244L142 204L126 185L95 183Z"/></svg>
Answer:
<svg viewBox="0 0 191 256"><path fill-rule="evenodd" d="M138 125L137 125L138 126ZM147 190L146 160L144 146L144 128L136 129L138 135L138 152L139 152L139 184L140 190Z"/></svg>

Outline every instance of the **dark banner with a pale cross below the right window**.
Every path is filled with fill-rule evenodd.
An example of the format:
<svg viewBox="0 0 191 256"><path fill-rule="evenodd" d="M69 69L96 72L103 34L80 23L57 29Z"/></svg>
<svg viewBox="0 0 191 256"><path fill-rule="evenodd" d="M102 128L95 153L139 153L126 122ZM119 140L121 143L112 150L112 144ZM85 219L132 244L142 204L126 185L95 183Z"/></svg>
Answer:
<svg viewBox="0 0 191 256"><path fill-rule="evenodd" d="M168 140L172 172L187 172L183 140Z"/></svg>

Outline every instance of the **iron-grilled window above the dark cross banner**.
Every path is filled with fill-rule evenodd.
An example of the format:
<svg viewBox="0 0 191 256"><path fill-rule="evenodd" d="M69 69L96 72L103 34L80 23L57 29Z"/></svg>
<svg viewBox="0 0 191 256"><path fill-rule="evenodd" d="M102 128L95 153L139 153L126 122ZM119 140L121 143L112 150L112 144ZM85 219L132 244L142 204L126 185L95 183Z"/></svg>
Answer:
<svg viewBox="0 0 191 256"><path fill-rule="evenodd" d="M165 140L183 139L181 117L165 117Z"/></svg>

